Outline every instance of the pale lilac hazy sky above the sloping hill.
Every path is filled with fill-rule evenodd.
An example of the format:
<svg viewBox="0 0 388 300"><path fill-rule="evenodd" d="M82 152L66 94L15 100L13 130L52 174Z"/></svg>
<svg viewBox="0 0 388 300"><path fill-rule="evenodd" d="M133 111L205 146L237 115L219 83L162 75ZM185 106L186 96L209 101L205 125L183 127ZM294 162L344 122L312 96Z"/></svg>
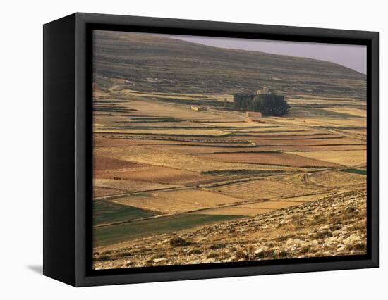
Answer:
<svg viewBox="0 0 388 300"><path fill-rule="evenodd" d="M195 37L190 35L164 35L188 42L230 49L261 51L272 54L300 56L332 61L366 74L366 46L321 44L308 42L269 41L265 39L236 39L230 37Z"/></svg>

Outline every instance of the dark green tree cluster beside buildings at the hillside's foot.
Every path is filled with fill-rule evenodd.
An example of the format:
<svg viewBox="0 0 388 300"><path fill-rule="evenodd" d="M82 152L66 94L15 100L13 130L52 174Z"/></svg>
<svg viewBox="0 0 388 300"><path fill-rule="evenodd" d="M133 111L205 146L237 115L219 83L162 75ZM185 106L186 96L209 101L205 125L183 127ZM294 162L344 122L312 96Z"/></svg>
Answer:
<svg viewBox="0 0 388 300"><path fill-rule="evenodd" d="M289 112L284 96L277 94L235 94L234 107L238 111L259 111L262 115L281 116Z"/></svg>

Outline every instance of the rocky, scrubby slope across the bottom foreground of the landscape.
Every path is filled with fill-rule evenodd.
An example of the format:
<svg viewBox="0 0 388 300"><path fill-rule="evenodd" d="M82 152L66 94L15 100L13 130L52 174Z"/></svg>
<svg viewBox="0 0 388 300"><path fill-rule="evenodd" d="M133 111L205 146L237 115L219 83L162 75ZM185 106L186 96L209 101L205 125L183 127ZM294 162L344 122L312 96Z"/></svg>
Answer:
<svg viewBox="0 0 388 300"><path fill-rule="evenodd" d="M365 189L96 250L94 268L366 254Z"/></svg>

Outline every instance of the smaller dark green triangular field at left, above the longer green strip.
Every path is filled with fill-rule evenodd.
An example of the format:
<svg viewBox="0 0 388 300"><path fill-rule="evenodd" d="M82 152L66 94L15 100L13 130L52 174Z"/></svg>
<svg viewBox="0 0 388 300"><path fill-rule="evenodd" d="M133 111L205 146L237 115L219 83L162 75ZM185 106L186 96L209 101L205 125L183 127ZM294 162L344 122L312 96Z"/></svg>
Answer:
<svg viewBox="0 0 388 300"><path fill-rule="evenodd" d="M93 225L147 218L158 214L154 211L116 204L107 200L93 201Z"/></svg>

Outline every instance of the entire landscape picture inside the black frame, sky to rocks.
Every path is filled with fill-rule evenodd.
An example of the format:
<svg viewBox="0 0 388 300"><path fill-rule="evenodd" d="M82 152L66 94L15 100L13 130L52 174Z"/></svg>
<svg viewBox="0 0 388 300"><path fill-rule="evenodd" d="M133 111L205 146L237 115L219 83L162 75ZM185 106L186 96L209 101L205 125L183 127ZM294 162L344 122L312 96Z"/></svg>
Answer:
<svg viewBox="0 0 388 300"><path fill-rule="evenodd" d="M367 254L366 46L92 36L93 269Z"/></svg>

